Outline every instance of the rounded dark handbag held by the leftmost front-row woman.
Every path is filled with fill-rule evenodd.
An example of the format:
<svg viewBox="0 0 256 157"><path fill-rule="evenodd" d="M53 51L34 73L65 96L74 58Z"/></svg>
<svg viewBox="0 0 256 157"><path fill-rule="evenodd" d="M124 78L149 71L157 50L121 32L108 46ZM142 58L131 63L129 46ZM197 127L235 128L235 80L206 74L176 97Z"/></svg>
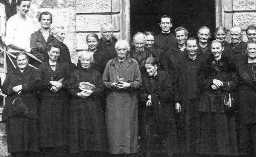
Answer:
<svg viewBox="0 0 256 157"><path fill-rule="evenodd" d="M20 115L23 114L24 111L26 111L27 106L24 103L24 101L21 99L21 97L17 97L12 101L12 107L11 107L11 112L12 115Z"/></svg>

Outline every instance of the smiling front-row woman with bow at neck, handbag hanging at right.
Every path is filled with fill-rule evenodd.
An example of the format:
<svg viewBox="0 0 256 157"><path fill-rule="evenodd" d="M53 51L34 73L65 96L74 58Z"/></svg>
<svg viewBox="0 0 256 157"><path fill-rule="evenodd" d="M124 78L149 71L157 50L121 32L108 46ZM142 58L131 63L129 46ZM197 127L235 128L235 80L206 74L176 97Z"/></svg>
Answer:
<svg viewBox="0 0 256 157"><path fill-rule="evenodd" d="M229 96L238 87L235 63L222 53L224 47L221 40L213 40L211 51L212 54L200 67L198 80L202 94L197 151L204 155L237 156L235 115L225 109L229 103L224 101L225 96Z"/></svg>

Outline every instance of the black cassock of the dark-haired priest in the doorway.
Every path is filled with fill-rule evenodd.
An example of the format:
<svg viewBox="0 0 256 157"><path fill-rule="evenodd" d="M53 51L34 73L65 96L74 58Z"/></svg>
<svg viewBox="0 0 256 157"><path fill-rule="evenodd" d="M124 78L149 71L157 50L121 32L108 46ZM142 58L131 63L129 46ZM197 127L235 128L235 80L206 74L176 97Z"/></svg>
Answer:
<svg viewBox="0 0 256 157"><path fill-rule="evenodd" d="M167 54L168 49L171 46L176 44L177 44L177 41L175 40L175 35L172 34L171 32L167 34L161 32L160 34L155 36L154 46L162 49L166 57L168 57L168 54Z"/></svg>

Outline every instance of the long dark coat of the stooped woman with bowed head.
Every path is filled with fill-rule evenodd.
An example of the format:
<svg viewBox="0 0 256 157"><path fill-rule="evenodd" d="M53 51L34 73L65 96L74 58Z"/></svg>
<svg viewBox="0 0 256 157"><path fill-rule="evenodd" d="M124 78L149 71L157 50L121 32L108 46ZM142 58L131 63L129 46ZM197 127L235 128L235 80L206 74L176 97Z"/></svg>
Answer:
<svg viewBox="0 0 256 157"><path fill-rule="evenodd" d="M154 87L151 87L149 81L154 79ZM173 107L173 95L174 90L172 88L172 80L168 73L164 71L157 71L157 75L154 77L148 76L147 73L142 74L142 87L140 88L139 100L143 108L143 122L142 122L142 135L141 135L141 152L146 153L149 157L151 152L155 149L154 139L158 135L158 138L162 136L162 143L165 143L166 151L169 156L178 150L177 142L177 130L174 120L174 107ZM146 83L147 82L147 83ZM161 106L164 112L169 117L168 132L161 132L159 125L155 121L152 106L146 107L148 96L157 94L159 101L161 100ZM163 100L163 101L162 101ZM154 104L152 104L154 105ZM149 127L150 126L150 127ZM153 151L154 152L154 151Z"/></svg>

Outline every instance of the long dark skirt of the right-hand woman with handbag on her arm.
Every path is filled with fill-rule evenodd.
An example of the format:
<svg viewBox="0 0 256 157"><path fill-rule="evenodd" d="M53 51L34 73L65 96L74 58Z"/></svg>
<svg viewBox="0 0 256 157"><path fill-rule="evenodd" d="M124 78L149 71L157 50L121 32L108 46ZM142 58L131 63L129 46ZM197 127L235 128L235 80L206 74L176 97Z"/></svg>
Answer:
<svg viewBox="0 0 256 157"><path fill-rule="evenodd" d="M198 153L238 155L235 116L228 113L200 112Z"/></svg>

